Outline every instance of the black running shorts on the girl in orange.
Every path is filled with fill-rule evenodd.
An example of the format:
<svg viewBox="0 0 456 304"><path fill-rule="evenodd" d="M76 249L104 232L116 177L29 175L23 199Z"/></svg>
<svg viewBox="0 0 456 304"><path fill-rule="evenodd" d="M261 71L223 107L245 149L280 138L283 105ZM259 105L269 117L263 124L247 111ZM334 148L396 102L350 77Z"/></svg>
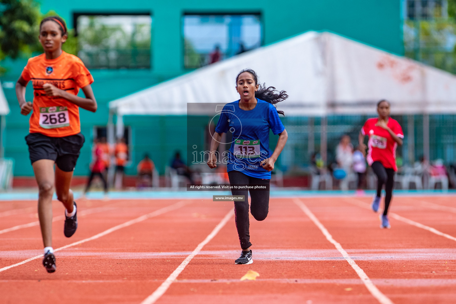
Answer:
<svg viewBox="0 0 456 304"><path fill-rule="evenodd" d="M26 136L32 164L37 160L53 160L57 167L65 172L74 170L84 141L81 133L65 137L50 137L41 133L30 133Z"/></svg>

